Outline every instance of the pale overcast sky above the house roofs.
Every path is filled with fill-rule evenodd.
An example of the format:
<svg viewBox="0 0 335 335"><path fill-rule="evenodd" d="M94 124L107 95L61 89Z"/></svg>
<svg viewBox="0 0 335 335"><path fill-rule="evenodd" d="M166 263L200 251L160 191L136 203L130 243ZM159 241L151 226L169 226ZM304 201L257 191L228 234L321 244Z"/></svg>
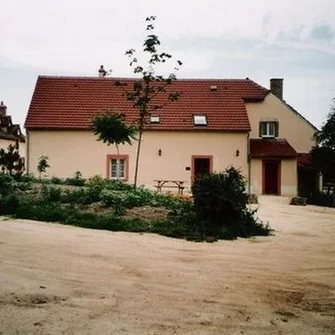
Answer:
<svg viewBox="0 0 335 335"><path fill-rule="evenodd" d="M335 0L0 0L0 100L23 126L38 75L131 76L156 15L182 78L246 78L269 87L316 126L335 97Z"/></svg>

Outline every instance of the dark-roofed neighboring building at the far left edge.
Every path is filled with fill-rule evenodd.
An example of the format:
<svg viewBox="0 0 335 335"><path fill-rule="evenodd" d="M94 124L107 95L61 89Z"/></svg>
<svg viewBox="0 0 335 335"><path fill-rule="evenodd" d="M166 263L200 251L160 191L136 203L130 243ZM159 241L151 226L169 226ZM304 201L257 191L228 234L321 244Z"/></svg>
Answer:
<svg viewBox="0 0 335 335"><path fill-rule="evenodd" d="M7 149L10 144L19 144L21 157L26 155L26 140L20 125L13 124L12 117L7 115L7 106L0 102L0 149Z"/></svg>

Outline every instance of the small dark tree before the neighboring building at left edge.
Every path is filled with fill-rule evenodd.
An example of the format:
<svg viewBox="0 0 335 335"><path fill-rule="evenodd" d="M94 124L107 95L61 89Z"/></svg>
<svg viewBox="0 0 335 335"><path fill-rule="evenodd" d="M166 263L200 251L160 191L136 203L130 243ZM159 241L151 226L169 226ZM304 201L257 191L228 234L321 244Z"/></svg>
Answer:
<svg viewBox="0 0 335 335"><path fill-rule="evenodd" d="M0 149L0 166L2 173L8 172L11 176L23 173L24 159L20 156L18 142L15 145L10 144L7 151Z"/></svg>

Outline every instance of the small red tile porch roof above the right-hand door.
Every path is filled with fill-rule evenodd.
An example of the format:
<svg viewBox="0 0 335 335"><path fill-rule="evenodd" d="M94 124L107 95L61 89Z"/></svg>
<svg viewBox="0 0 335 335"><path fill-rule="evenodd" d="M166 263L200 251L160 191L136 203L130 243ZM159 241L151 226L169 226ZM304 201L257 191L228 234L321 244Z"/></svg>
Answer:
<svg viewBox="0 0 335 335"><path fill-rule="evenodd" d="M298 153L285 139L251 139L252 158L294 158Z"/></svg>

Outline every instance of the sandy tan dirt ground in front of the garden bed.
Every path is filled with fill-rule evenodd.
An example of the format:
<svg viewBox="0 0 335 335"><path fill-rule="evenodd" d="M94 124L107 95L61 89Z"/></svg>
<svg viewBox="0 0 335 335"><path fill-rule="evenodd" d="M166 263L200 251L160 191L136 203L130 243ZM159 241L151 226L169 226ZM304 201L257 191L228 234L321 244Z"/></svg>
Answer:
<svg viewBox="0 0 335 335"><path fill-rule="evenodd" d="M335 334L335 209L193 243L0 218L0 334Z"/></svg>

